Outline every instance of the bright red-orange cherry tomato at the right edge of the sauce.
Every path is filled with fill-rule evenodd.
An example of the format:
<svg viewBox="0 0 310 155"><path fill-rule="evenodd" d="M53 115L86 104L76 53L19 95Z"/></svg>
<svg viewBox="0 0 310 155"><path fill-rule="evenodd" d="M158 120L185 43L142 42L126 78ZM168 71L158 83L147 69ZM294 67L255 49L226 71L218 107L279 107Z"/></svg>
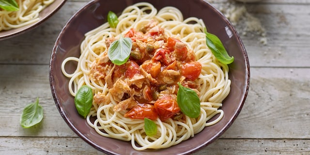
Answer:
<svg viewBox="0 0 310 155"><path fill-rule="evenodd" d="M202 64L200 62L184 63L181 68L181 75L190 80L195 80L202 72Z"/></svg>

